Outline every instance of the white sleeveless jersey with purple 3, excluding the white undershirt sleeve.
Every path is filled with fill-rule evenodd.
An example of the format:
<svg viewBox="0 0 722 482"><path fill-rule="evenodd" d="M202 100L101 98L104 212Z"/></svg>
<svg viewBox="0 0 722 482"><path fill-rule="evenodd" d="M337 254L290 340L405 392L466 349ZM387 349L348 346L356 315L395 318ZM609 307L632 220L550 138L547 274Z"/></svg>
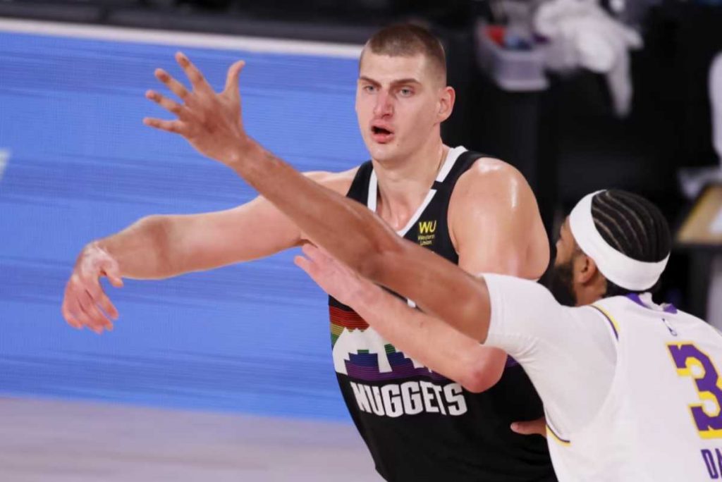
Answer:
<svg viewBox="0 0 722 482"><path fill-rule="evenodd" d="M612 297L593 307L616 338L617 367L590 424L568 440L549 429L559 480L722 480L720 333L674 307L646 307L639 298Z"/></svg>

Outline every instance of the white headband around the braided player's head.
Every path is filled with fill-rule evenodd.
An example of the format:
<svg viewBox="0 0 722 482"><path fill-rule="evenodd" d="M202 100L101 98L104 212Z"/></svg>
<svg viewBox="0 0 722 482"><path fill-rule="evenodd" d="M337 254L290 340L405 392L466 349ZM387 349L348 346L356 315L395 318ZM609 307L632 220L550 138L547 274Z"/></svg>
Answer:
<svg viewBox="0 0 722 482"><path fill-rule="evenodd" d="M669 255L657 263L647 263L619 253L610 246L594 226L591 200L604 191L584 196L569 215L569 227L581 250L594 260L606 279L625 289L643 291L650 289L667 266Z"/></svg>

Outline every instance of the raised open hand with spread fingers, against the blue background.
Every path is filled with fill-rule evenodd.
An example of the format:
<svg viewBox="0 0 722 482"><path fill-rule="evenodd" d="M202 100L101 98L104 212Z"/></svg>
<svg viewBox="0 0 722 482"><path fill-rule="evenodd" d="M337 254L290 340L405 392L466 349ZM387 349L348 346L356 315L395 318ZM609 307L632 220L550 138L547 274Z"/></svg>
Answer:
<svg viewBox="0 0 722 482"><path fill-rule="evenodd" d="M175 60L185 71L192 89L188 90L165 70L156 69L156 78L177 95L182 103L155 90L147 91L145 97L177 118L172 121L144 118L143 123L161 131L181 134L201 154L229 165L233 149L248 139L243 130L238 91L238 78L245 62L233 63L228 69L225 89L215 92L188 57L178 52Z"/></svg>

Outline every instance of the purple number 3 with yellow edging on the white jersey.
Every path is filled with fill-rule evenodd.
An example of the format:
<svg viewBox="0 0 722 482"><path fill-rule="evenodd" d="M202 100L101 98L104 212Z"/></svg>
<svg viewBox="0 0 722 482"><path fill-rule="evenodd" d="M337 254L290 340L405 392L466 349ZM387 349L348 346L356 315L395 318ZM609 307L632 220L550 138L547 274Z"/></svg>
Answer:
<svg viewBox="0 0 722 482"><path fill-rule="evenodd" d="M710 357L692 343L671 343L669 353L677 374L692 377L702 403L690 405L692 419L703 439L722 438L722 379Z"/></svg>

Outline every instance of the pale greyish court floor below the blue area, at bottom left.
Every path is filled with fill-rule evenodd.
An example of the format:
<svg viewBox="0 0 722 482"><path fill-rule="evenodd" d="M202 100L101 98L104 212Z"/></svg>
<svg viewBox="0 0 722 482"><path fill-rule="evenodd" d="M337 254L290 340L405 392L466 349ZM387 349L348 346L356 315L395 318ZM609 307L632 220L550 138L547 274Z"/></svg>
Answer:
<svg viewBox="0 0 722 482"><path fill-rule="evenodd" d="M380 481L340 422L0 398L0 481Z"/></svg>

